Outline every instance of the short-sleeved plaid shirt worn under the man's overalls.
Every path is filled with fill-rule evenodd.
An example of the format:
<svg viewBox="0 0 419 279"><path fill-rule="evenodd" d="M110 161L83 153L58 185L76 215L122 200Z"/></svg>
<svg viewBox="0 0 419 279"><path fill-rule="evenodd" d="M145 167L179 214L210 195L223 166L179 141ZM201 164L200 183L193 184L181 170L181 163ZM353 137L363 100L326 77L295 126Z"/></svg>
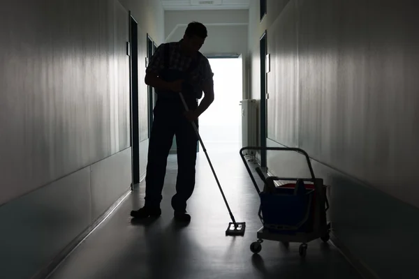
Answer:
<svg viewBox="0 0 419 279"><path fill-rule="evenodd" d="M152 58L149 61L149 65L147 66L146 73L154 73L159 75L161 70L165 68L165 61L164 61L164 45L170 45L170 62L169 62L169 69L170 70L179 70L179 71L186 71L188 70L193 58L190 56L186 56L182 54L180 51L180 43L166 43L161 44L157 47L156 52L153 54ZM200 90L202 93L203 84L205 82L213 83L213 76L210 61L208 61L207 57L203 55L198 55L198 67L191 72L191 82L193 82L193 87L196 90Z"/></svg>

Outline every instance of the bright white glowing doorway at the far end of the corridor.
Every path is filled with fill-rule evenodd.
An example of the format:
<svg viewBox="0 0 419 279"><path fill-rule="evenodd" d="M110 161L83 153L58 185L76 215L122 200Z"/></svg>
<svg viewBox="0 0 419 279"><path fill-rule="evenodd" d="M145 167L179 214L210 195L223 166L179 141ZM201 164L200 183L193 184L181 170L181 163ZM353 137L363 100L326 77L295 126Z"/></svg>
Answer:
<svg viewBox="0 0 419 279"><path fill-rule="evenodd" d="M213 151L237 151L242 144L242 59L208 57L214 73L214 103L200 116L199 130ZM202 100L202 99L201 99Z"/></svg>

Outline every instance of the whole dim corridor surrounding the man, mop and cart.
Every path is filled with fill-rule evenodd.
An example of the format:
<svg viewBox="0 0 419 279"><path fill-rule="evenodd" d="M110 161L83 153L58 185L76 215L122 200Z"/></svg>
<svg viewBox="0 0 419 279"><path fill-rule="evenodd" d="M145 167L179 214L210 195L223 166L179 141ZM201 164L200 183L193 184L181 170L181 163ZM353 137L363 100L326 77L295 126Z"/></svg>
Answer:
<svg viewBox="0 0 419 279"><path fill-rule="evenodd" d="M418 3L3 1L0 279L419 278ZM181 40L185 61L199 50L224 63L198 61L182 91L200 96L214 80L200 133L244 236L225 235L230 216L201 147L191 223L172 223L175 155L163 215L131 223L159 99L147 68ZM189 64L168 60L170 70ZM335 245L313 241L302 259L299 243L264 241L253 255L260 199L237 141L308 153L330 186ZM258 157L274 176L304 171L286 156Z"/></svg>

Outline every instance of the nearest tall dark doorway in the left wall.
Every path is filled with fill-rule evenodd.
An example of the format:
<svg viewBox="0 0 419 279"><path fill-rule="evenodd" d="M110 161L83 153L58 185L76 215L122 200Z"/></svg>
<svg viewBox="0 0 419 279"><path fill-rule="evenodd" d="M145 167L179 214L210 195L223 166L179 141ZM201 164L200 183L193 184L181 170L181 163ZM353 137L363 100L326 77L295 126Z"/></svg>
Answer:
<svg viewBox="0 0 419 279"><path fill-rule="evenodd" d="M140 132L138 128L138 22L129 15L129 44L127 52L130 55L130 87L131 87L131 149L133 185L140 183Z"/></svg>

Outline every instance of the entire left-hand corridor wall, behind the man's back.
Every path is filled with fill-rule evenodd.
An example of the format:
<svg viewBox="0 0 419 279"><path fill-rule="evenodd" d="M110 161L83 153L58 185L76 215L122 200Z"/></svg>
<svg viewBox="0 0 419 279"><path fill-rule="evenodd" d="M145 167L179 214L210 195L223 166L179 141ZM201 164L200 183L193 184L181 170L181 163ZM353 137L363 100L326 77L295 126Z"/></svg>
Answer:
<svg viewBox="0 0 419 279"><path fill-rule="evenodd" d="M145 33L163 40L156 3L0 4L0 278L45 271L129 190L128 10L137 19L154 12L138 20L143 75Z"/></svg>

